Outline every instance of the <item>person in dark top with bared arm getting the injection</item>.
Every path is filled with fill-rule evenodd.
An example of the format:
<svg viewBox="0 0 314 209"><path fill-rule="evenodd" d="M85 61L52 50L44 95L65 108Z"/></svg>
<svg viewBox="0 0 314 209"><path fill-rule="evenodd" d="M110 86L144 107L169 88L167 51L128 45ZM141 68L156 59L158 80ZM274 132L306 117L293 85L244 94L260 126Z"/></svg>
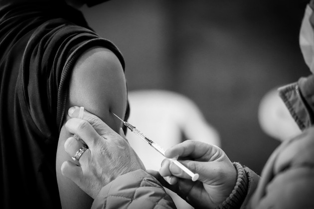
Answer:
<svg viewBox="0 0 314 209"><path fill-rule="evenodd" d="M60 168L69 106L127 119L122 54L76 9L102 1L0 0L1 209L91 207Z"/></svg>

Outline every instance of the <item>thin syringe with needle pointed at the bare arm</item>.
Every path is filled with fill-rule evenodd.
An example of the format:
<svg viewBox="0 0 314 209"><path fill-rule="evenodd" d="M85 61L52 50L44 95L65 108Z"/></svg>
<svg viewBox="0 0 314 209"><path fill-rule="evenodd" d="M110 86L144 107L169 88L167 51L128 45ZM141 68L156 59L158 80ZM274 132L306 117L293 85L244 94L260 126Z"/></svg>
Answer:
<svg viewBox="0 0 314 209"><path fill-rule="evenodd" d="M113 112L112 112L113 113ZM115 113L113 113L116 117L118 117ZM120 117L118 117L125 126L127 126L132 132L134 132L135 134L137 134L140 138L142 138L144 141L146 141L147 143L149 143L149 145L151 145L152 147L154 147L160 154L162 154L164 157L164 149L162 149L158 144L156 144L154 141L152 141L151 139L149 139L146 135L144 135L144 133L142 133L141 131L139 131L135 126L131 125L130 123L123 121ZM191 178L192 181L195 182L199 175L198 174L194 174L192 171L190 171L188 168L186 168L184 165L182 165L179 161L175 160L175 159L169 159L171 160L175 165L177 165L180 169L182 169L186 174L188 174Z"/></svg>

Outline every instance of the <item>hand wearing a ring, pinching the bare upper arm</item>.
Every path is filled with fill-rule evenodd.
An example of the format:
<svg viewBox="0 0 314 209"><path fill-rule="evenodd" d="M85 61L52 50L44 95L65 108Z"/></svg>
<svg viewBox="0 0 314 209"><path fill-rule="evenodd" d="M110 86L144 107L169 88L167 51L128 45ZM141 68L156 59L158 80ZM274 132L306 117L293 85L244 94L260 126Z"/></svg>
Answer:
<svg viewBox="0 0 314 209"><path fill-rule="evenodd" d="M74 162L65 161L61 172L95 199L101 188L118 176L138 169L145 170L145 167L127 140L100 118L86 110L83 119L76 118L79 109L69 109L71 119L66 122L65 127L82 139L88 149L79 158L79 166ZM123 134L122 129L120 132ZM64 144L65 151L71 157L75 156L82 146L83 143L74 137L69 137Z"/></svg>

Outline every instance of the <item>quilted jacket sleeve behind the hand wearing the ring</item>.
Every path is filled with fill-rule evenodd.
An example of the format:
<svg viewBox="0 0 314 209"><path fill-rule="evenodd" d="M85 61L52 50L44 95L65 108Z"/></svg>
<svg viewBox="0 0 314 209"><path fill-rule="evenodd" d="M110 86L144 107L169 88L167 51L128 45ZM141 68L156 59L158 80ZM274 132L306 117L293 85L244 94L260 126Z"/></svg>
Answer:
<svg viewBox="0 0 314 209"><path fill-rule="evenodd" d="M103 187L92 209L175 209L161 184L143 170L136 170Z"/></svg>

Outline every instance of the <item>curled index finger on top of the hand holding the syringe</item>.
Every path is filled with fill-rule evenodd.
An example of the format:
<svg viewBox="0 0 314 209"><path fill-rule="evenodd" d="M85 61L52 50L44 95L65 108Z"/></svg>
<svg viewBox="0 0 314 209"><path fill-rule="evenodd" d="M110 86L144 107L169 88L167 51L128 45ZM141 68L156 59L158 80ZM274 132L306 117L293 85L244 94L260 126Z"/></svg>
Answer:
<svg viewBox="0 0 314 209"><path fill-rule="evenodd" d="M173 158L175 156L186 157L193 159L203 159L209 161L212 157L211 153L216 153L217 147L215 145L206 144L200 141L186 140L182 143L176 144L165 151L165 157Z"/></svg>

